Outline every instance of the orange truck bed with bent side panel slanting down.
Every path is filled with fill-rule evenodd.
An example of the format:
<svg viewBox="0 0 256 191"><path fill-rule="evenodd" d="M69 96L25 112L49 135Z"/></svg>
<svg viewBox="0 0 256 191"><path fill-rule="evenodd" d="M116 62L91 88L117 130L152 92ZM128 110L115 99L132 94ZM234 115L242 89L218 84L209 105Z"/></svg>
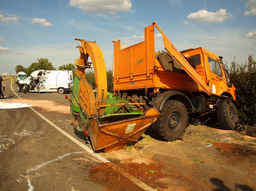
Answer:
<svg viewBox="0 0 256 191"><path fill-rule="evenodd" d="M157 59L160 52L155 50L155 28L163 37L165 51L176 63L176 72L166 70ZM113 80L114 91L155 89L157 92L166 89L205 91L211 94L201 76L155 22L145 28L143 42L121 49L121 41L114 41Z"/></svg>

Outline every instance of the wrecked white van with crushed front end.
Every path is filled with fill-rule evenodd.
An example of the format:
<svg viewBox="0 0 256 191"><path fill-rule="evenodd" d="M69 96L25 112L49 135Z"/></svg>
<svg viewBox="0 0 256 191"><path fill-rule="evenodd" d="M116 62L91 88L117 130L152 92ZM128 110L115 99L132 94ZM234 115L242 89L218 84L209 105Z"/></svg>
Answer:
<svg viewBox="0 0 256 191"><path fill-rule="evenodd" d="M64 94L73 86L71 70L36 70L29 77L20 80L18 91L28 92L58 92Z"/></svg>

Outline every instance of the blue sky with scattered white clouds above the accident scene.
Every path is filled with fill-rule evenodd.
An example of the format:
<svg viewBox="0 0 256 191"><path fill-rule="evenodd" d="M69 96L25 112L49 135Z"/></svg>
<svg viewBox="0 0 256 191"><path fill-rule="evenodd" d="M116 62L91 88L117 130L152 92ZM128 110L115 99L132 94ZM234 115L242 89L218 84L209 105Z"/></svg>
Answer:
<svg viewBox="0 0 256 191"><path fill-rule="evenodd" d="M203 47L228 65L256 56L256 0L2 0L0 74L48 58L58 69L96 40L112 69L113 40L133 45L156 21L178 50Z"/></svg>

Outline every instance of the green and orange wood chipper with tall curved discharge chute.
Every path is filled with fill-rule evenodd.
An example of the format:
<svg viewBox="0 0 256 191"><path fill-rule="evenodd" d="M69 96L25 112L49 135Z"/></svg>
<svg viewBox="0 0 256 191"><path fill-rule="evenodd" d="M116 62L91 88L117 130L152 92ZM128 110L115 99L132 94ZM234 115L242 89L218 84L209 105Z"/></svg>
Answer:
<svg viewBox="0 0 256 191"><path fill-rule="evenodd" d="M132 100L108 93L107 76L101 49L95 42L76 39L80 58L71 89L70 112L73 124L78 131L90 137L94 151L104 149L113 151L136 142L145 130L160 116L155 108L148 110L145 103L133 103ZM88 58L92 63L88 62ZM95 73L97 90L86 79L85 69L91 64ZM107 97L108 94L108 97Z"/></svg>

